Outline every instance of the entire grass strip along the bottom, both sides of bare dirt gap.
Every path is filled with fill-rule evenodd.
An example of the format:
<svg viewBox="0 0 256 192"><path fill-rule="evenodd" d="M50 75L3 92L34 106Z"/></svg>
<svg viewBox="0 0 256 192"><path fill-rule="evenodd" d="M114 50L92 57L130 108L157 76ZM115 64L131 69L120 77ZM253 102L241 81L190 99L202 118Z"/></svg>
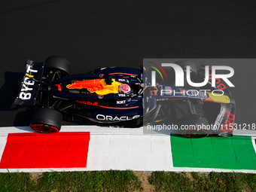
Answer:
<svg viewBox="0 0 256 192"><path fill-rule="evenodd" d="M156 191L256 191L256 174L240 172L152 172ZM142 191L133 171L0 173L0 191Z"/></svg>

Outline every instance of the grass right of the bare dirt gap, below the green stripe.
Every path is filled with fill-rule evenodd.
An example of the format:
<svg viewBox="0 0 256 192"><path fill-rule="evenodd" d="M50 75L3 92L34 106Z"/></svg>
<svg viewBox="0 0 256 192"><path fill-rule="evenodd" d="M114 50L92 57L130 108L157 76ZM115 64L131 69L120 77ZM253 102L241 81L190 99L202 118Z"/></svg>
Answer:
<svg viewBox="0 0 256 192"><path fill-rule="evenodd" d="M156 191L256 191L256 175L241 172L152 172Z"/></svg>

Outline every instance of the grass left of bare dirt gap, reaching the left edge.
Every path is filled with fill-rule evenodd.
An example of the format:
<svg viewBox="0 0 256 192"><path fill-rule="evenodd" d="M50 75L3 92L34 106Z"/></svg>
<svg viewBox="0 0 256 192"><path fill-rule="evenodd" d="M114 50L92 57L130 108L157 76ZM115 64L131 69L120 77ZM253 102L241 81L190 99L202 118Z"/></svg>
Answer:
<svg viewBox="0 0 256 192"><path fill-rule="evenodd" d="M26 172L0 173L0 191L134 191L142 182L130 170L44 172L33 180Z"/></svg>

